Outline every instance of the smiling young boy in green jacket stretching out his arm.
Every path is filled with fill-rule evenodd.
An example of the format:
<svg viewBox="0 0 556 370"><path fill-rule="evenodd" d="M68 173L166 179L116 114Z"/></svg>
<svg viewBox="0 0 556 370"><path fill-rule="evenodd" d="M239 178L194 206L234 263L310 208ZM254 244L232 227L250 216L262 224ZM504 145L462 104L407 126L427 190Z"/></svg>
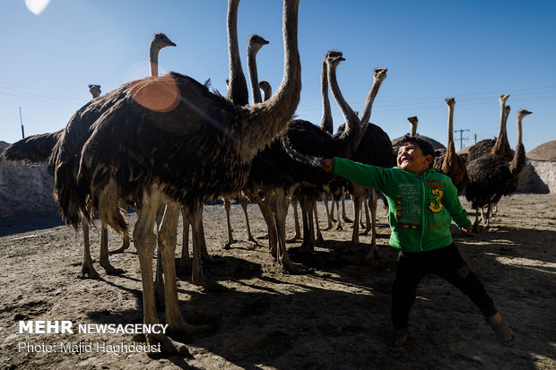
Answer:
<svg viewBox="0 0 556 370"><path fill-rule="evenodd" d="M450 178L432 168L432 146L421 138L405 136L396 148L395 168L379 168L341 158L325 159L320 165L326 171L377 189L387 198L388 224L392 229L390 245L400 250L392 289L393 328L387 344L400 347L410 337L409 310L415 301L417 285L428 273L462 290L481 310L502 343L513 344L516 336L452 243L449 230L452 219L465 232L471 231L471 220Z"/></svg>

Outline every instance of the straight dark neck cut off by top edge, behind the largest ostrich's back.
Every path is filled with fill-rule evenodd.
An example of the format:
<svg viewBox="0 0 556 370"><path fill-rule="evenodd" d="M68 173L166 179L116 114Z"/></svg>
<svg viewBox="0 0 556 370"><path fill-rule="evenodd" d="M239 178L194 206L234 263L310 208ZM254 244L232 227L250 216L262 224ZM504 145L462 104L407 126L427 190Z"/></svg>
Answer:
<svg viewBox="0 0 556 370"><path fill-rule="evenodd" d="M238 7L239 0L228 1L228 60L230 65L230 85L227 99L237 106L248 105L248 83L241 68L238 45Z"/></svg>

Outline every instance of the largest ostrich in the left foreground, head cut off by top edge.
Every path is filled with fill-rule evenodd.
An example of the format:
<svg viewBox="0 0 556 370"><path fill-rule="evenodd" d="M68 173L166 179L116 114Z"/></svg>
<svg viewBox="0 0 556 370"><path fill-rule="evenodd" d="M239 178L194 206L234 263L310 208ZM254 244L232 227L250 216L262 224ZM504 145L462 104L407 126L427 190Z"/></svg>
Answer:
<svg viewBox="0 0 556 370"><path fill-rule="evenodd" d="M271 99L252 107L234 105L179 73L128 82L93 100L70 120L58 142L55 194L67 223L79 210L91 217L87 199L100 219L126 232L115 200L135 204L134 245L143 283L143 322L158 323L152 286L152 226L161 202L167 204L158 242L164 264L166 322L170 331L206 330L185 323L178 306L174 265L180 207L193 228L193 273L200 272L202 211L205 201L236 194L245 185L252 159L277 138L300 101L301 75L297 24L299 0L283 1L284 75ZM92 125L89 118L93 118ZM91 127L82 151L69 151L80 125ZM68 151L66 151L68 149ZM79 155L81 153L81 155ZM77 156L76 156L77 155ZM77 184L68 178L79 160ZM146 335L149 344L185 349L164 334Z"/></svg>

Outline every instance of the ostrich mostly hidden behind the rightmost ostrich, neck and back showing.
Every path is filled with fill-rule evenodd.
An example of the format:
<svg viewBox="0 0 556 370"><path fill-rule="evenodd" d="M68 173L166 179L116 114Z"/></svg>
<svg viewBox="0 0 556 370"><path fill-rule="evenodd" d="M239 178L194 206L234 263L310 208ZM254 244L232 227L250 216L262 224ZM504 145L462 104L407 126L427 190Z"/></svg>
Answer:
<svg viewBox="0 0 556 370"><path fill-rule="evenodd" d="M509 107L506 106L508 98L508 94L500 95L500 124L496 140L485 139L471 146L467 153L467 162L471 162L473 159L477 159L486 154L498 154L508 159L513 158L514 153L509 147L508 132L506 130L506 122L509 115Z"/></svg>

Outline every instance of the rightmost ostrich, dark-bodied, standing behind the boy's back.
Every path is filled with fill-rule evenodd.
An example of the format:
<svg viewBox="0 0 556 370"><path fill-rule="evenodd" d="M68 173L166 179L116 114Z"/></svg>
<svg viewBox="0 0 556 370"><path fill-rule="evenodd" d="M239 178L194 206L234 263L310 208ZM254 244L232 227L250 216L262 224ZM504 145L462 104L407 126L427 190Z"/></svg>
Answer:
<svg viewBox="0 0 556 370"><path fill-rule="evenodd" d="M511 161L498 154L486 154L467 164L469 184L465 189L465 198L477 211L475 231L478 231L479 224L478 209L489 207L485 219L488 227L491 204L499 202L502 195L511 195L517 188L519 175L526 162L526 151L522 143L522 120L531 113L526 109L517 111L517 145Z"/></svg>

